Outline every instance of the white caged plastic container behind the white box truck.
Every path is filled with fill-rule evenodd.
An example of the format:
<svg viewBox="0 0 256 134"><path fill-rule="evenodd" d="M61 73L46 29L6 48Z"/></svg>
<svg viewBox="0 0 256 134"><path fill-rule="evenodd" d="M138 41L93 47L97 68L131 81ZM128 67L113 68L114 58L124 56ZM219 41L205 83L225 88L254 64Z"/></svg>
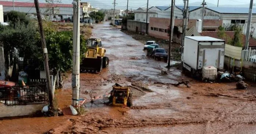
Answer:
<svg viewBox="0 0 256 134"><path fill-rule="evenodd" d="M214 66L204 66L202 70L203 79L215 80L217 78L217 68Z"/></svg>

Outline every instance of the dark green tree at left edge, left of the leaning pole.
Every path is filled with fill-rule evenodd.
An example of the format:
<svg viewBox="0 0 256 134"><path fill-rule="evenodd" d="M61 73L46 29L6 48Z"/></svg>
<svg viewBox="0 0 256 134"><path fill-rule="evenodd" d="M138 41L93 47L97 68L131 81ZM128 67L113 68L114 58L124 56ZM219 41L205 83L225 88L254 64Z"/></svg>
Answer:
<svg viewBox="0 0 256 134"><path fill-rule="evenodd" d="M36 42L36 29L33 24L24 24L21 22L13 23L9 26L2 27L0 32L0 44L4 47L6 79L16 80L12 67L16 67L18 57L24 57L24 64L32 58L37 52L38 47ZM18 50L18 52L17 52ZM17 55L18 54L18 55Z"/></svg>

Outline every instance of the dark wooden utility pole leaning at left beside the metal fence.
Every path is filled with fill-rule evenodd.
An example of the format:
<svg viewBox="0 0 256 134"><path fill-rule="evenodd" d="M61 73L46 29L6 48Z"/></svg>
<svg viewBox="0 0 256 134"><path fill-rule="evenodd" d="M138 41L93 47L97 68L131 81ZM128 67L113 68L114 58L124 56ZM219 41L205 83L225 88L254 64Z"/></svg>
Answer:
<svg viewBox="0 0 256 134"><path fill-rule="evenodd" d="M41 43L42 43L42 49L43 49L43 58L44 58L44 65L45 65L45 74L46 74L46 81L47 81L47 89L48 89L48 96L49 96L49 105L51 108L53 108L53 92L51 87L51 80L50 80L50 72L49 72L49 64L48 64L48 53L47 53L47 47L45 42L45 34L43 31L43 23L42 23L42 17L39 9L38 0L34 0L35 7L36 7L36 15L38 18L38 25L39 25L39 32L41 37Z"/></svg>

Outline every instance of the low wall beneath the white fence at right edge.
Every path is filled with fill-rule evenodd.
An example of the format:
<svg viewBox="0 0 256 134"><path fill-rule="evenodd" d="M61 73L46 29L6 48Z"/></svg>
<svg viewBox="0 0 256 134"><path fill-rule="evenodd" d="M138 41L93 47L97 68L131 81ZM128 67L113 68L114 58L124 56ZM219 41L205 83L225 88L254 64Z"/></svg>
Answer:
<svg viewBox="0 0 256 134"><path fill-rule="evenodd" d="M249 80L249 81L253 81L254 75L256 75L256 63L253 63L253 62L249 62L249 61L241 62L241 60L234 60L230 57L225 56L224 65L229 67L230 68L229 70L232 70L233 65L238 69L241 69L241 66L242 66L242 72L244 73L244 77L246 80Z"/></svg>

